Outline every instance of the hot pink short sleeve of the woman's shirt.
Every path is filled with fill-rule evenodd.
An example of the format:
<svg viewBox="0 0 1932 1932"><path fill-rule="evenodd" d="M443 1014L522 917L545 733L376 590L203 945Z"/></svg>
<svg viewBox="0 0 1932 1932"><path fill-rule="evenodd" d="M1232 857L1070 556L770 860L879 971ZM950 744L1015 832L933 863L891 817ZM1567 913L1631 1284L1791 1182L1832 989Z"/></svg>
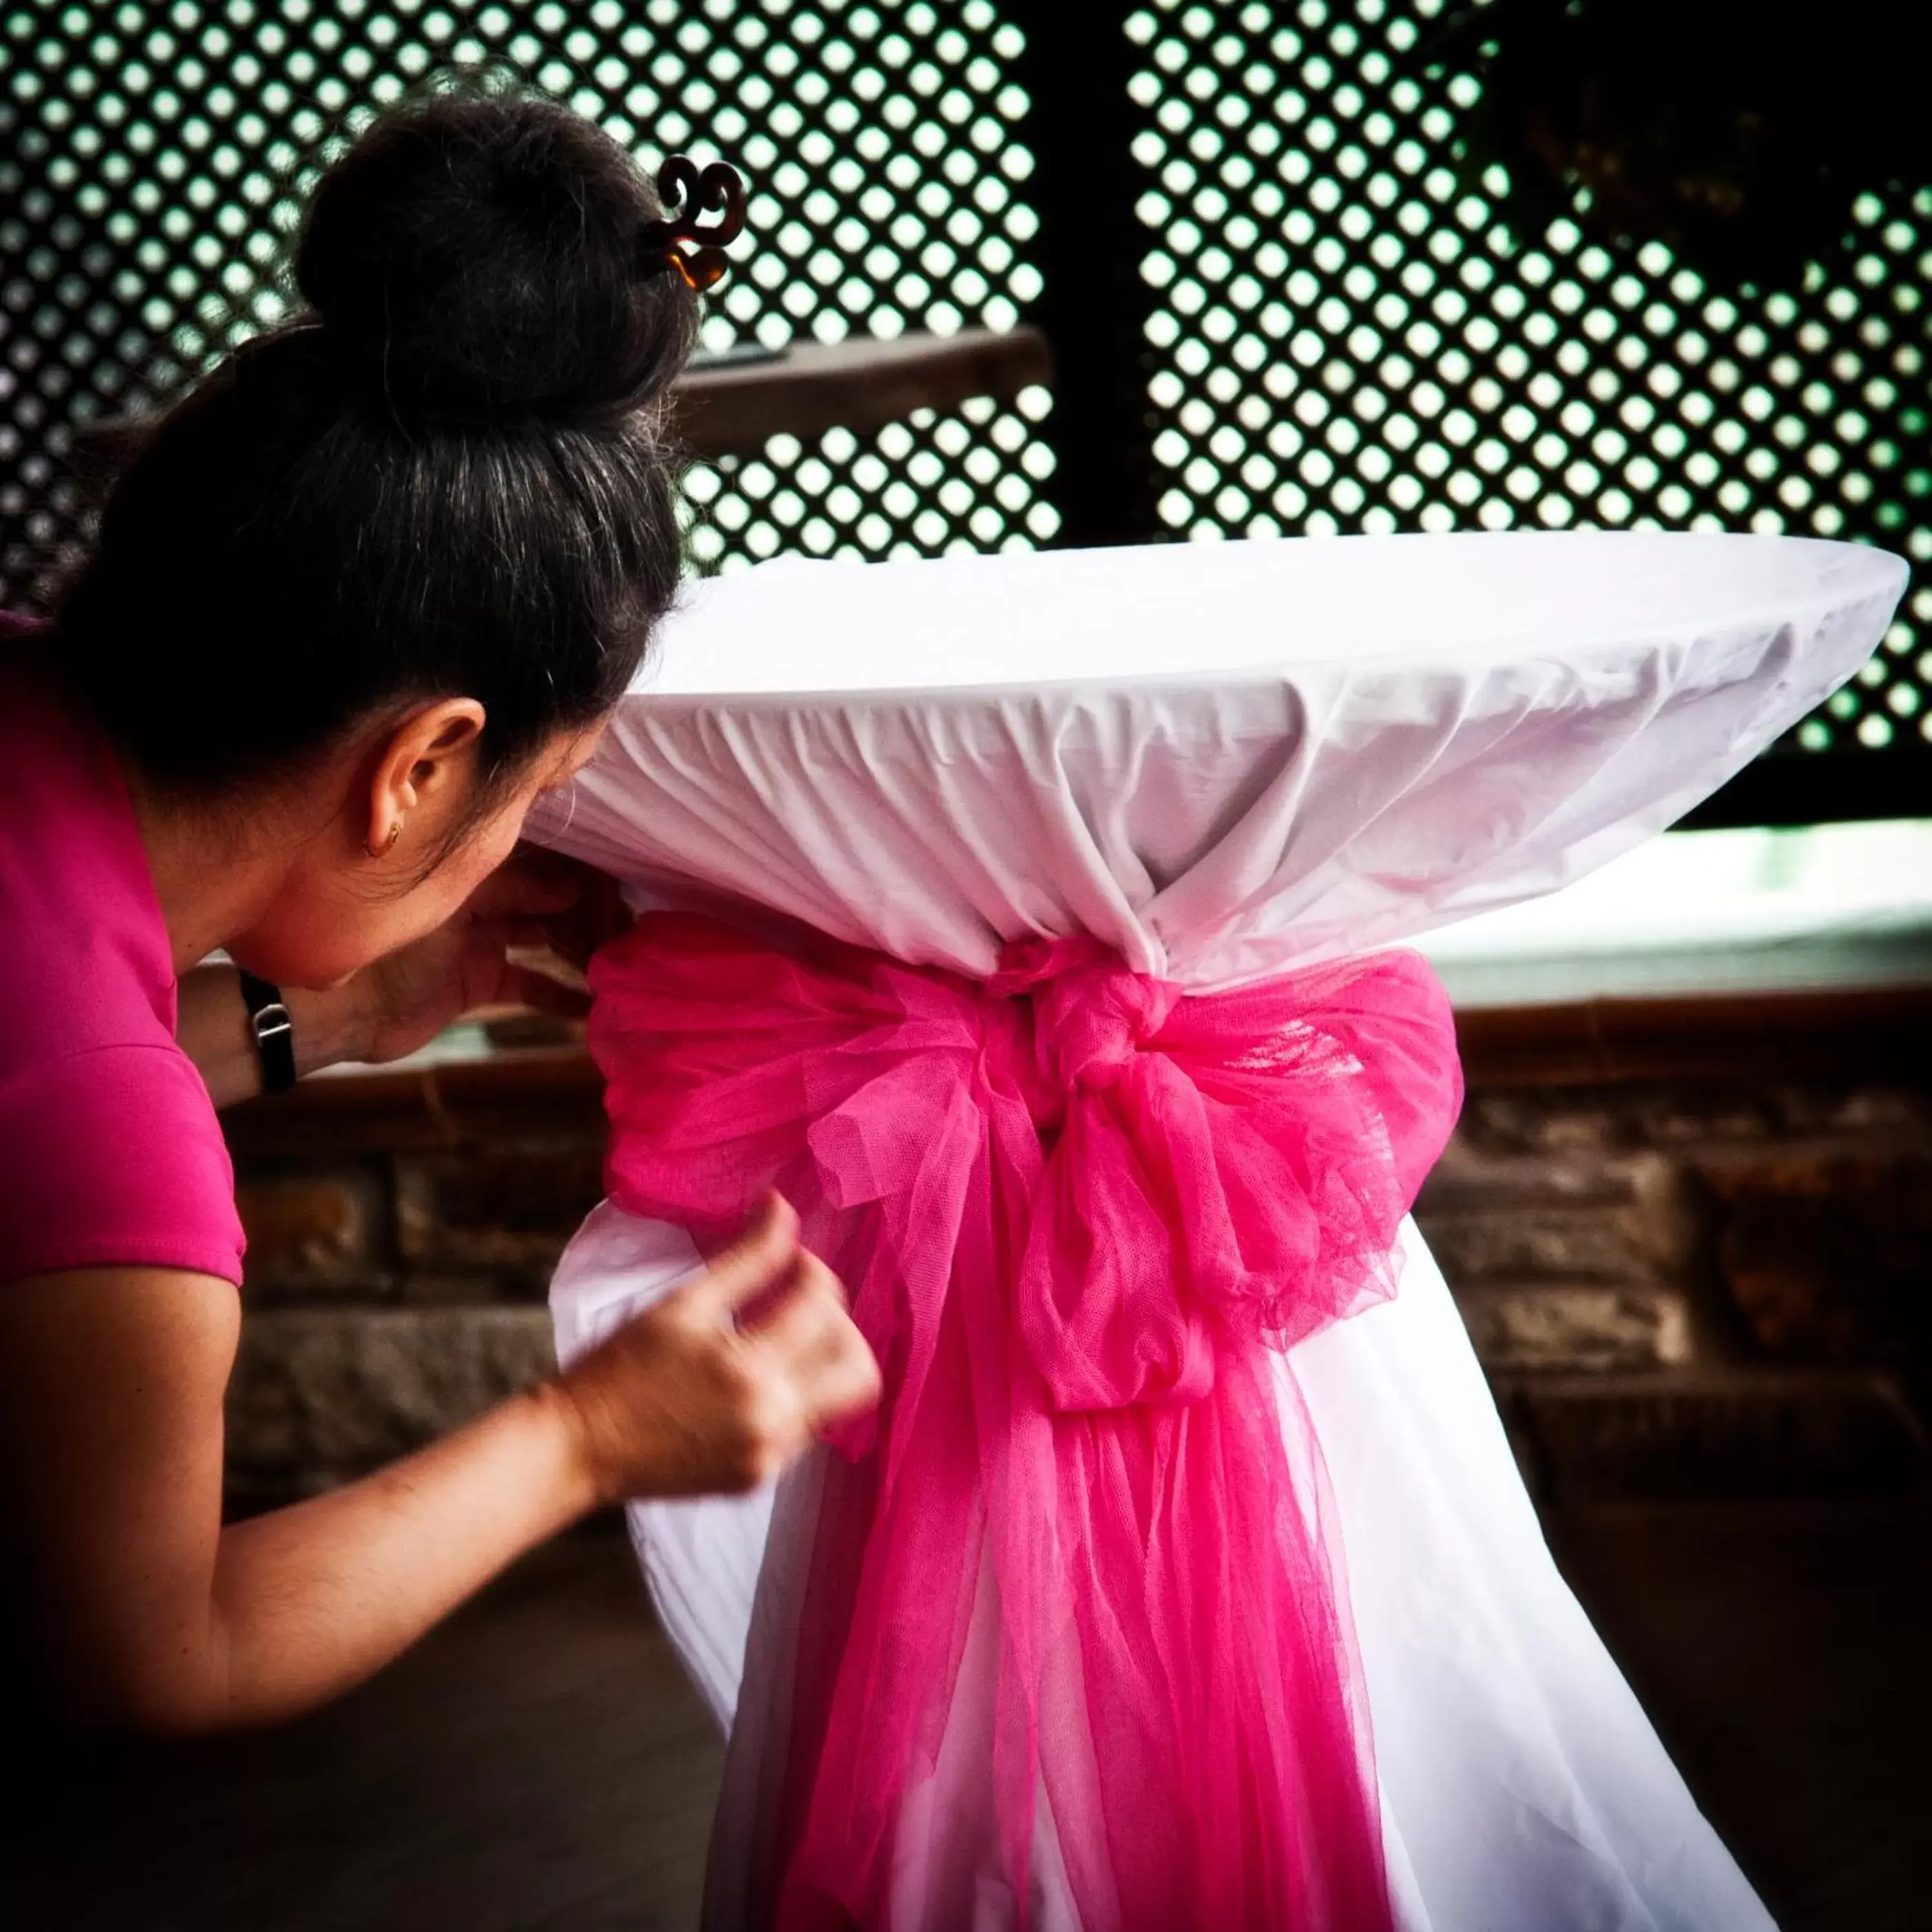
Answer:
<svg viewBox="0 0 1932 1932"><path fill-rule="evenodd" d="M0 1074L0 1281L184 1267L242 1281L220 1122L170 1045L108 1045Z"/></svg>

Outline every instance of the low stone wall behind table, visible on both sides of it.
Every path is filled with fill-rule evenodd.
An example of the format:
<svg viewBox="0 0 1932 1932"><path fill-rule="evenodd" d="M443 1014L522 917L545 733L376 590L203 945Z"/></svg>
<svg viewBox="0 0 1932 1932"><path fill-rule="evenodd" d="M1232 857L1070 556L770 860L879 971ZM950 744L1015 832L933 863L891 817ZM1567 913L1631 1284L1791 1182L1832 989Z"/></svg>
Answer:
<svg viewBox="0 0 1932 1932"><path fill-rule="evenodd" d="M1416 1213L1546 1495L1926 1480L1920 1036L1839 1028L1820 1051L1816 1016L1776 1018L1714 1012L1685 1036L1704 1045L1621 1065L1604 1014L1582 1059L1548 1014L1464 1028L1468 1103ZM582 1053L309 1082L240 1109L230 1144L238 1505L369 1468L543 1370L545 1283L601 1192Z"/></svg>

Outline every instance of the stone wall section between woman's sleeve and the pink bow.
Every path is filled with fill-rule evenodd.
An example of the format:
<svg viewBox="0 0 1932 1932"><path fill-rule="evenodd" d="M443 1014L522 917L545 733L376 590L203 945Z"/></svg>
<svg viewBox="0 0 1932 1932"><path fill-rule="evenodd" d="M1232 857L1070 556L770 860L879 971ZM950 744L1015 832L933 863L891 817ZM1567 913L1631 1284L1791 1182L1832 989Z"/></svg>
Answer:
<svg viewBox="0 0 1932 1932"><path fill-rule="evenodd" d="M373 1468L551 1366L545 1287L603 1192L582 1053L323 1076L226 1126L249 1236L238 1507Z"/></svg>

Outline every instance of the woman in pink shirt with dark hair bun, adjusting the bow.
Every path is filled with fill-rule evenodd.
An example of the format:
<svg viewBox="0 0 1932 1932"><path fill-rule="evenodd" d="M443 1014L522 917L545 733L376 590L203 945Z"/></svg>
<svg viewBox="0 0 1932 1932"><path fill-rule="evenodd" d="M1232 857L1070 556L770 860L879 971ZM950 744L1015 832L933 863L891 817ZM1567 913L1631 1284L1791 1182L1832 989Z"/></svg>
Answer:
<svg viewBox="0 0 1932 1932"><path fill-rule="evenodd" d="M661 214L545 102L377 124L309 207L309 311L145 433L54 624L0 649L0 1503L83 1712L288 1718L599 1503L750 1488L875 1397L771 1196L570 1374L220 1522L214 1105L286 1070L274 987L301 1070L392 1057L524 993L504 949L568 914L504 860L678 585L697 317Z"/></svg>

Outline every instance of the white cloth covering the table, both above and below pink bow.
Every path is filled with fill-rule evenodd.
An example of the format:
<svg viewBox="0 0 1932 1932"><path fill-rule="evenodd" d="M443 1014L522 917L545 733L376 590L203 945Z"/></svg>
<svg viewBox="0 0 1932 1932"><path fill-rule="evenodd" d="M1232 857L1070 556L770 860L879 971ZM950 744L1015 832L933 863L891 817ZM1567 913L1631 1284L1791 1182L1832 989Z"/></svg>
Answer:
<svg viewBox="0 0 1932 1932"><path fill-rule="evenodd" d="M771 564L690 593L531 835L753 931L777 912L983 976L1003 941L1084 929L1219 989L1627 850L1841 684L1903 585L1853 545L1605 533ZM1768 1924L1559 1578L1412 1227L1405 1248L1393 1302L1289 1358L1403 1926ZM597 1209L553 1287L560 1356L696 1265L682 1229ZM738 1689L769 1513L630 1511L726 1725L761 1716ZM902 1922L954 1922L908 1886Z"/></svg>

